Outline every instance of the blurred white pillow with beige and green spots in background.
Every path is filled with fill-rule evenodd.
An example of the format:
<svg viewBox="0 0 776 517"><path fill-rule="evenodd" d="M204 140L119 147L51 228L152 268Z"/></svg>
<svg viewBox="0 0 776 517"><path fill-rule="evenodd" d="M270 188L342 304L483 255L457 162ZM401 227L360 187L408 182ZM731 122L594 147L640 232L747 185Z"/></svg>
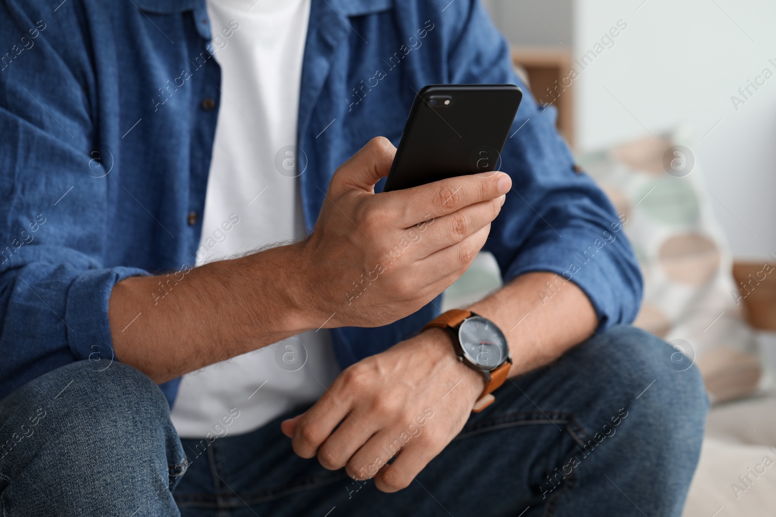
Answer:
<svg viewBox="0 0 776 517"><path fill-rule="evenodd" d="M586 153L579 164L628 219L625 234L644 276L635 326L675 350L667 366L701 369L712 402L757 388L756 342L731 293L733 260L688 139L670 133Z"/></svg>

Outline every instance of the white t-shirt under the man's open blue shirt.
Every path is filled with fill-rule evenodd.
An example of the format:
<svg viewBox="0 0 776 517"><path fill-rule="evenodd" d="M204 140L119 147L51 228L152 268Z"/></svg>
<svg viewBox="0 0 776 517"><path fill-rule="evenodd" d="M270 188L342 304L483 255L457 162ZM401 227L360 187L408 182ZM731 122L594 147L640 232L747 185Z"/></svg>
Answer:
<svg viewBox="0 0 776 517"><path fill-rule="evenodd" d="M222 79L198 264L305 236L293 160L310 0L207 8ZM314 402L338 373L328 331L303 333L184 375L172 422L182 438L223 435L223 422L248 433Z"/></svg>

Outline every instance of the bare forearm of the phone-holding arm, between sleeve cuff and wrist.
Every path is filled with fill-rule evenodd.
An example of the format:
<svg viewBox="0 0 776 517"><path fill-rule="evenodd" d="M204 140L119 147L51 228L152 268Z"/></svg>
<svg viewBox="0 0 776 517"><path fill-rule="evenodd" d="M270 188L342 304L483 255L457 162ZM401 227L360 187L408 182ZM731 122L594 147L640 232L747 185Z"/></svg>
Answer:
<svg viewBox="0 0 776 517"><path fill-rule="evenodd" d="M116 359L161 383L309 330L294 246L120 281L109 302Z"/></svg>

